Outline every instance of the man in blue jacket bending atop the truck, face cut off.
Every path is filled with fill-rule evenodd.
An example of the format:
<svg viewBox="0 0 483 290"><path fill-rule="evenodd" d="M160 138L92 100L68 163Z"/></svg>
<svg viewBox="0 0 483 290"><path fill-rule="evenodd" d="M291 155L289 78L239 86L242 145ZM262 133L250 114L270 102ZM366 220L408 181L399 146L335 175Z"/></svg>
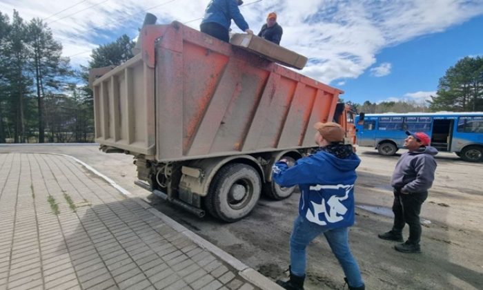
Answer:
<svg viewBox="0 0 483 290"><path fill-rule="evenodd" d="M242 0L211 0L199 26L201 32L219 40L230 42L228 31L230 30L231 19L233 19L238 28L253 35L253 31L248 27L248 23L246 23L238 8L242 4Z"/></svg>

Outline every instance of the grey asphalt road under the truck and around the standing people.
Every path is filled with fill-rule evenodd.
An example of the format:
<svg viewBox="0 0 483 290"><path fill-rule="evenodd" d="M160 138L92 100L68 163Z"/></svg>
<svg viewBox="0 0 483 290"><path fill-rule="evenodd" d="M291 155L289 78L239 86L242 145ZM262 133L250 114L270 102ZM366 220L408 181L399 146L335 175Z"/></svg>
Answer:
<svg viewBox="0 0 483 290"><path fill-rule="evenodd" d="M137 189L132 157L104 154L97 146L14 147L8 150L56 151L74 155L106 173L132 193ZM0 148L1 151L6 148ZM462 162L449 153L438 156L435 186L425 202L422 255L395 252L393 244L378 240L377 233L391 227L392 193L388 182L398 156L382 157L371 148L359 148L362 164L357 173L356 202L381 214L357 209L350 242L368 289L483 289L483 164ZM274 202L262 198L242 221L224 224L196 218L170 204L156 208L224 251L275 280L288 268L288 238L297 214L299 194ZM386 214L386 215L384 215ZM306 289L342 289L344 274L323 238L308 248Z"/></svg>

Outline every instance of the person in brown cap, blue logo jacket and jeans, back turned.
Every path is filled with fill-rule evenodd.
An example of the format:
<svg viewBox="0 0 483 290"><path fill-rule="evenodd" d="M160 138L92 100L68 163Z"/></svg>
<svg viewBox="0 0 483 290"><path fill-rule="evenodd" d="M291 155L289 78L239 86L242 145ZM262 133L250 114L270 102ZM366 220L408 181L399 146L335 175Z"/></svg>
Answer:
<svg viewBox="0 0 483 290"><path fill-rule="evenodd" d="M306 247L324 234L344 270L349 289L364 289L359 266L348 245L348 227L354 224L355 168L361 160L352 145L344 145L344 129L336 123L315 124L320 151L273 166L273 180L280 186L299 185L299 215L290 235L290 280L277 281L285 289L304 289Z"/></svg>

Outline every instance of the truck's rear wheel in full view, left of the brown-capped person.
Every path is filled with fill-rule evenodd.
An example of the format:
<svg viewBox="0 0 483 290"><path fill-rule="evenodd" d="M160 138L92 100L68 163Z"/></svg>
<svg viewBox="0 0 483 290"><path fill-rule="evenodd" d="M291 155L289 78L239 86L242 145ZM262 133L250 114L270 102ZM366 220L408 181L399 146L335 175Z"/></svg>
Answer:
<svg viewBox="0 0 483 290"><path fill-rule="evenodd" d="M236 222L252 211L261 191L260 176L252 166L228 164L213 178L205 206L215 218Z"/></svg>

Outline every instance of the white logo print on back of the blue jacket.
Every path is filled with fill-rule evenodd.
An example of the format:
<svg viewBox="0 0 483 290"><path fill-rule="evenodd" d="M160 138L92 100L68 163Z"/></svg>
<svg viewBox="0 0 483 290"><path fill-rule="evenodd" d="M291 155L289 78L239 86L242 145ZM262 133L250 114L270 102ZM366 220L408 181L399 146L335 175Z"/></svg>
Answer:
<svg viewBox="0 0 483 290"><path fill-rule="evenodd" d="M327 222L334 223L334 222L340 222L341 220L344 220L343 215L346 214L347 208L346 206L344 206L344 204L342 204L342 201L348 198L349 192L353 189L353 187L354 187L354 184L352 185L317 184L316 186L310 186L311 191L320 191L321 189L328 190L328 191L334 191L334 190L339 191L340 189L343 189L346 192L346 194L342 197L337 195L332 195L327 202L324 198L322 198L322 201L320 204L317 204L317 202L311 201L314 212L312 212L310 208L308 209L306 214L307 220L314 222L315 224L319 224L321 226L325 226ZM327 222L319 219L320 213L324 213L325 220Z"/></svg>

